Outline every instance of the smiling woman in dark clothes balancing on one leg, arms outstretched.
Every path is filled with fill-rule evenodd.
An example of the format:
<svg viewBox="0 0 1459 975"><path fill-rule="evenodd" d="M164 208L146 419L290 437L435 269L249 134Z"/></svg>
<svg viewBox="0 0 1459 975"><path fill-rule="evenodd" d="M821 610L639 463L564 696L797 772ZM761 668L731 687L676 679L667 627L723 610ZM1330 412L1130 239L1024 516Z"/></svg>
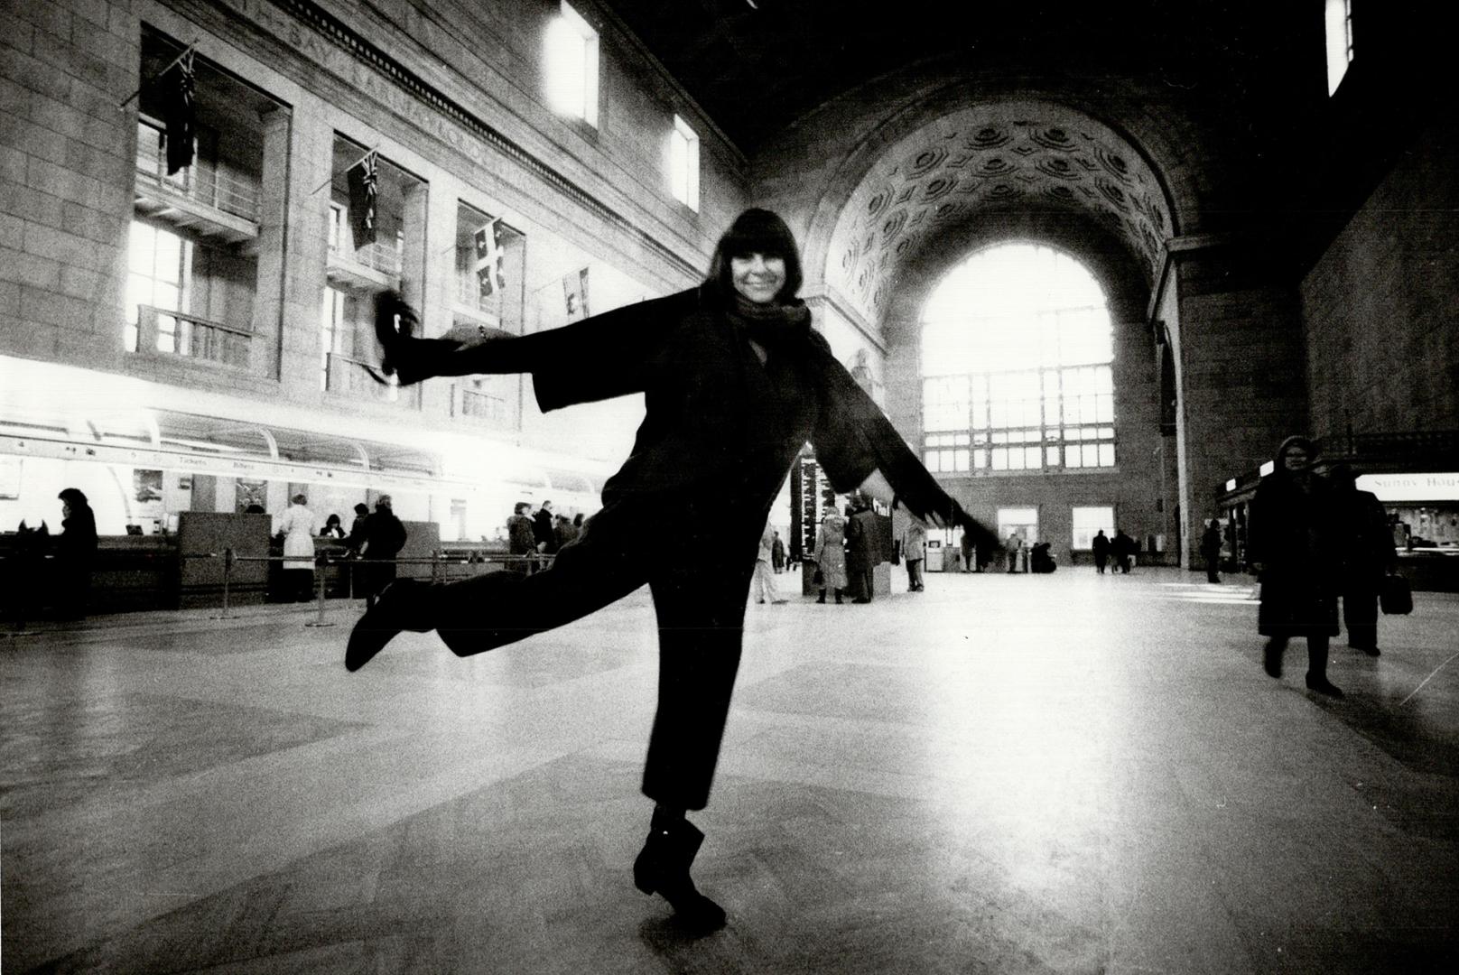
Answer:
<svg viewBox="0 0 1459 975"><path fill-rule="evenodd" d="M702 285L563 328L465 346L411 339L414 312L392 295L376 308L382 368L401 382L531 372L543 410L643 394L643 423L604 485L603 509L547 571L445 585L401 579L356 623L344 663L362 667L403 629L435 629L455 654L479 654L646 582L659 626L658 712L643 771L655 809L633 877L702 931L725 914L689 876L703 833L684 813L709 800L760 533L804 444L839 492L859 488L937 524L980 530L811 330L800 286L789 229L754 209L719 241ZM678 542L699 555L659 558L642 544L645 524L677 525Z"/></svg>

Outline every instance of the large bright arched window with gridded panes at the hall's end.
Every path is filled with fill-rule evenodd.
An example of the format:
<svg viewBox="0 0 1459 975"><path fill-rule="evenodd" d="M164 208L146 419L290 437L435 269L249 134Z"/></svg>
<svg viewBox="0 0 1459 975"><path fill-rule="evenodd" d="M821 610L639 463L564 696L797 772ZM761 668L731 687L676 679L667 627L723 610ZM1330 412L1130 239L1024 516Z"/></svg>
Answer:
<svg viewBox="0 0 1459 975"><path fill-rule="evenodd" d="M1115 466L1115 358L1104 292L1068 254L978 251L922 311L928 470Z"/></svg>

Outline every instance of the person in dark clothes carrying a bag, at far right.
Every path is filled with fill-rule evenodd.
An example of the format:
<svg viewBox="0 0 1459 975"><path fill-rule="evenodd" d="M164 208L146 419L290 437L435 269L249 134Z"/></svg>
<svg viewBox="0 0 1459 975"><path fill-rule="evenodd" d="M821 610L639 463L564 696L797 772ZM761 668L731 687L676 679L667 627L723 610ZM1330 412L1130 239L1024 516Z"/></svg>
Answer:
<svg viewBox="0 0 1459 975"><path fill-rule="evenodd" d="M1383 575L1398 571L1393 531L1377 495L1358 490L1357 471L1347 464L1334 464L1328 480L1332 482L1334 518L1344 537L1338 560L1348 647L1377 657L1382 652L1377 648L1377 593Z"/></svg>

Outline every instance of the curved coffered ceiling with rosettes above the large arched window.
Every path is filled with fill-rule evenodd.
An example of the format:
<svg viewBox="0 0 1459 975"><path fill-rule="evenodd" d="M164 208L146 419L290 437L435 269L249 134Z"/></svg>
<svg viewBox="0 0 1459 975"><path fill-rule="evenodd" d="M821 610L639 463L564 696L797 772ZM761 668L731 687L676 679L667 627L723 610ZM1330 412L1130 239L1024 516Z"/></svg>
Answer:
<svg viewBox="0 0 1459 975"><path fill-rule="evenodd" d="M980 210L1084 213L1158 273L1170 203L1150 163L1109 126L1039 101L966 108L896 143L846 201L826 282L881 323L902 261Z"/></svg>

